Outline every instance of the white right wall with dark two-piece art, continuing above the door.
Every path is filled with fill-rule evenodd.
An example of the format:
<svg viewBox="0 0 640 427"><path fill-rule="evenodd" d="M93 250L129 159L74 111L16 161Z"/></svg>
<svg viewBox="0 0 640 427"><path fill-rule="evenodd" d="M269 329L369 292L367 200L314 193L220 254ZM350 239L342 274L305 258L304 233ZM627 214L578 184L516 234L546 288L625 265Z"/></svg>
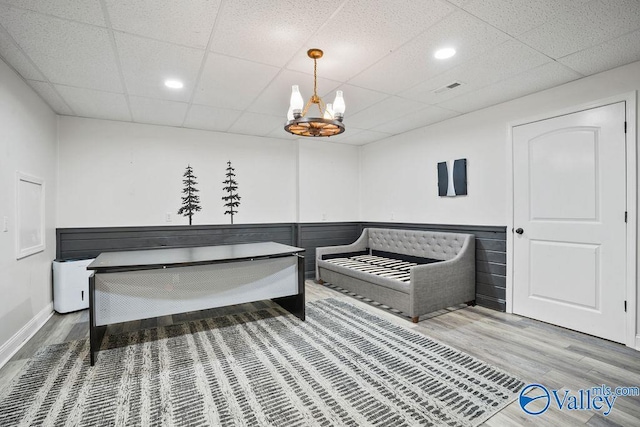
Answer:
<svg viewBox="0 0 640 427"><path fill-rule="evenodd" d="M366 145L362 219L391 221L393 213L398 222L506 226L509 124L637 90L640 62ZM637 114L628 120L640 123L640 109ZM637 133L628 137L637 147ZM468 160L469 195L438 197L436 164L458 158ZM640 291L636 295L640 307ZM640 316L636 323L640 331Z"/></svg>

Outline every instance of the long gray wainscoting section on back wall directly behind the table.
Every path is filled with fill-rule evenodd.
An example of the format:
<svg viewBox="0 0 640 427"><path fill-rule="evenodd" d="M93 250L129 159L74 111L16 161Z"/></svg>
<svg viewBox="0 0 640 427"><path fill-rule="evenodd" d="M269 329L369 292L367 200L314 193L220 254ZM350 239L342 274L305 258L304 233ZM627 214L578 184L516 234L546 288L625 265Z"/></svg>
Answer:
<svg viewBox="0 0 640 427"><path fill-rule="evenodd" d="M236 243L295 245L294 223L58 228L56 258L93 258L101 252Z"/></svg>

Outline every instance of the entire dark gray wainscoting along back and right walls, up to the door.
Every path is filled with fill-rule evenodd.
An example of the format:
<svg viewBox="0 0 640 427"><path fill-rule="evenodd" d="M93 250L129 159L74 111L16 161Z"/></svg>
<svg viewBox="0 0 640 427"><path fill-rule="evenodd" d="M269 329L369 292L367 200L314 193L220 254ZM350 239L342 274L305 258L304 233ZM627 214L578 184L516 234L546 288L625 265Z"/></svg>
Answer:
<svg viewBox="0 0 640 427"><path fill-rule="evenodd" d="M153 227L59 228L56 258L101 252L234 243L278 242L306 249L305 274L315 278L316 248L353 243L365 227L472 233L476 236L476 302L505 311L506 227L390 222L320 222Z"/></svg>

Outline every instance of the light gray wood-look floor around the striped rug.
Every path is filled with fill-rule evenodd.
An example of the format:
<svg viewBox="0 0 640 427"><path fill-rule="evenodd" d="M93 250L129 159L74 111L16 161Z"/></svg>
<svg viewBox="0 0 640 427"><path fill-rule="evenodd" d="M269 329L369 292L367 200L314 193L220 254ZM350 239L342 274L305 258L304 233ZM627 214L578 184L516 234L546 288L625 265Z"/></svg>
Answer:
<svg viewBox="0 0 640 427"><path fill-rule="evenodd" d="M358 299L307 281L307 301L338 298L412 328L518 376L525 383L549 389L572 390L606 384L640 386L640 352L610 341L569 331L524 317L482 307L442 310L424 316L418 324ZM188 315L164 316L109 327L107 333L181 323L194 318L220 316L261 308L270 302L242 304ZM89 335L88 311L53 317L0 369L0 387L12 378L42 347ZM550 409L541 416L525 414L517 401L490 418L485 426L640 426L640 397L619 397L607 417L594 411Z"/></svg>

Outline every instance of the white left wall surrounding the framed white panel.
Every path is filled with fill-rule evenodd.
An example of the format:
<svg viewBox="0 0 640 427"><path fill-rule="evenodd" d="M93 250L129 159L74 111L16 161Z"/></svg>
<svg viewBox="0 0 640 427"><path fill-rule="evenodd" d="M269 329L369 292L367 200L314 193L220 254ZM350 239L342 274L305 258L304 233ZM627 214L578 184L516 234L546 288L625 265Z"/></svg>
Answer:
<svg viewBox="0 0 640 427"><path fill-rule="evenodd" d="M46 320L55 258L56 116L0 60L0 366ZM46 249L16 260L16 172L45 181ZM3 231L4 217L8 231Z"/></svg>

